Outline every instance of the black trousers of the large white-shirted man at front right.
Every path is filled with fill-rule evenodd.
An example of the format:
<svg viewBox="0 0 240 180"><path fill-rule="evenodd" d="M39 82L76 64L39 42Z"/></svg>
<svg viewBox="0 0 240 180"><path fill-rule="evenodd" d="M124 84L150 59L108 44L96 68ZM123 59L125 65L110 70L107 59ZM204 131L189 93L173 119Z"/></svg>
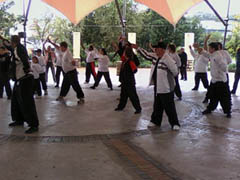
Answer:
<svg viewBox="0 0 240 180"><path fill-rule="evenodd" d="M231 113L231 94L228 83L216 82L210 85L210 103L207 109L214 111L220 102L225 114Z"/></svg>

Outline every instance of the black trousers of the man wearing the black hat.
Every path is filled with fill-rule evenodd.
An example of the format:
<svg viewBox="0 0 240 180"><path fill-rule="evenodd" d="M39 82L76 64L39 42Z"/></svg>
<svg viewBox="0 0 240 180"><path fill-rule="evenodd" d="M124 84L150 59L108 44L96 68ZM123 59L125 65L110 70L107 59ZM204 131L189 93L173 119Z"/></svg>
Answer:
<svg viewBox="0 0 240 180"><path fill-rule="evenodd" d="M156 95L153 104L151 122L158 126L161 126L163 111L166 112L171 127L174 125L180 126L174 102L174 92Z"/></svg>

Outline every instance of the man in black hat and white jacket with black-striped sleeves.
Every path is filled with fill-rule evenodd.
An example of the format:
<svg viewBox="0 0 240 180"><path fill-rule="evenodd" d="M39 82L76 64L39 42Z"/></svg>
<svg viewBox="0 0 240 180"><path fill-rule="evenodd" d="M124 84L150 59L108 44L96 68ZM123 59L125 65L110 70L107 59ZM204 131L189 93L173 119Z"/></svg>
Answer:
<svg viewBox="0 0 240 180"><path fill-rule="evenodd" d="M150 85L154 85L154 104L151 122L148 127L161 126L163 111L173 130L179 130L177 111L174 102L175 77L178 75L176 62L166 52L167 45L159 42L152 46L154 52L147 52L132 45L147 60L152 62Z"/></svg>

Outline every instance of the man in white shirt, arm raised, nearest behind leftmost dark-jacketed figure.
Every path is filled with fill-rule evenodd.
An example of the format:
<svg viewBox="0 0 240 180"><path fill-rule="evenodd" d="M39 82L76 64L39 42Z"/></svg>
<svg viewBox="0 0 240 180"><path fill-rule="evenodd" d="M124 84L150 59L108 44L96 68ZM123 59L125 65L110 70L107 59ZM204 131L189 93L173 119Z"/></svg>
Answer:
<svg viewBox="0 0 240 180"><path fill-rule="evenodd" d="M60 49L63 52L62 57L62 67L65 73L63 77L63 83L57 101L63 101L64 97L67 95L70 87L73 87L73 90L77 93L77 98L79 99L78 103L84 103L84 93L78 82L78 72L76 69L76 62L73 59L71 52L68 49L68 44L66 42L60 43Z"/></svg>

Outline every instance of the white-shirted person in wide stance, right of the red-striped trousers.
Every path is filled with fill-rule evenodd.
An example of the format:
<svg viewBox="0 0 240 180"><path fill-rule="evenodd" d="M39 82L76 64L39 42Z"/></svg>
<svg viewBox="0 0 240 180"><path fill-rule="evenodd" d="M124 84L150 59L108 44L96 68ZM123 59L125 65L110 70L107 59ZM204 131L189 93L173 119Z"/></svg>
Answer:
<svg viewBox="0 0 240 180"><path fill-rule="evenodd" d="M110 60L107 56L106 50L104 48L100 49L99 53L96 54L96 57L98 58L98 73L94 85L90 88L95 89L99 85L102 76L104 76L108 87L110 88L110 90L113 90L112 81L110 79L110 74L108 70L108 64Z"/></svg>

